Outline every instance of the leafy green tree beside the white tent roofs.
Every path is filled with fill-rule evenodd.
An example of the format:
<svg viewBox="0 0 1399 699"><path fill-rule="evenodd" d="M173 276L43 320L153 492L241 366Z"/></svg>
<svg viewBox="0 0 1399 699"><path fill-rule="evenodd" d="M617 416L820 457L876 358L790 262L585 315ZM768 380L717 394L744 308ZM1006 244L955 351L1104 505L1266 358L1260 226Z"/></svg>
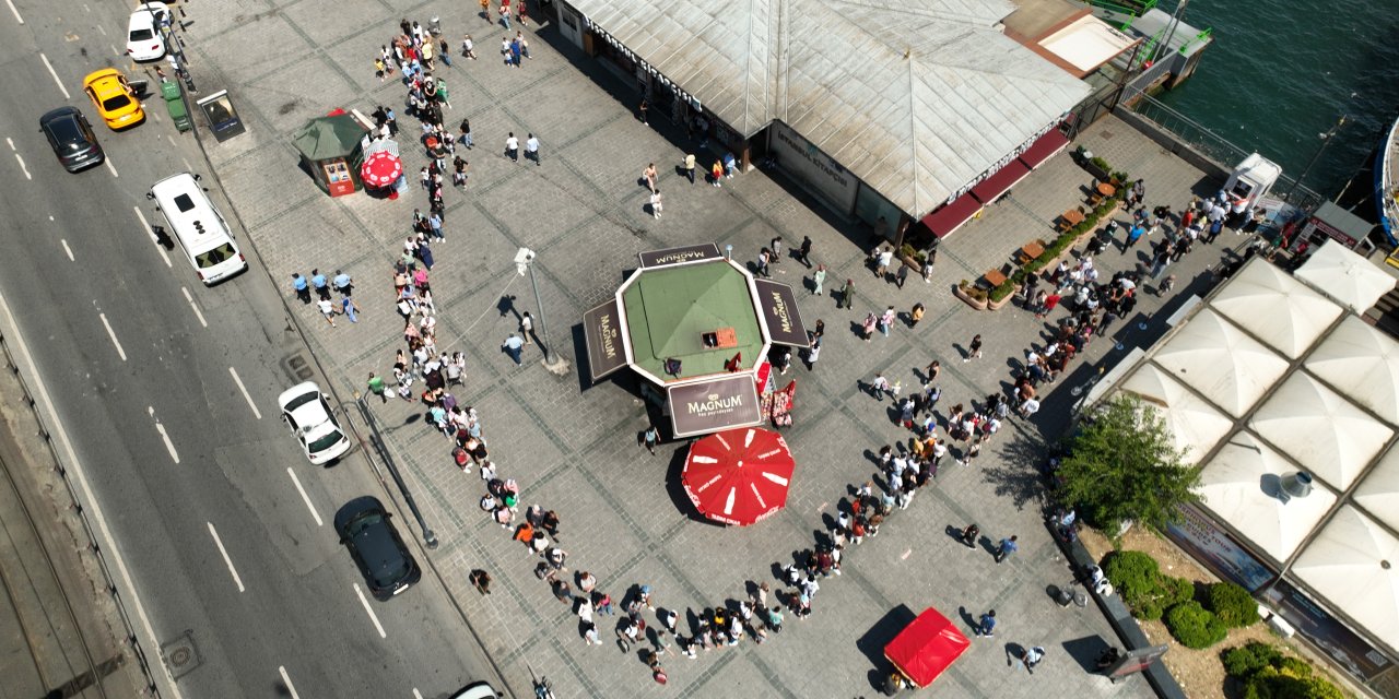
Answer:
<svg viewBox="0 0 1399 699"><path fill-rule="evenodd" d="M1185 466L1161 415L1132 394L1094 410L1067 440L1059 463L1063 500L1107 531L1135 520L1163 528L1177 506L1198 502L1200 470Z"/></svg>

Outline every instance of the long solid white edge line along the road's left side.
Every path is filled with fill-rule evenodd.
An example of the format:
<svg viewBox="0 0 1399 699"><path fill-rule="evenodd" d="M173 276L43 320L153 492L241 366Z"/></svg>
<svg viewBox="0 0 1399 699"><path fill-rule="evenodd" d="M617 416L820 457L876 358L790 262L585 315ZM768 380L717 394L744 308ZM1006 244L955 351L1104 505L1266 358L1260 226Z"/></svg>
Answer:
<svg viewBox="0 0 1399 699"><path fill-rule="evenodd" d="M10 303L6 302L4 296L0 295L0 313L4 315L4 326L15 330L13 337L6 340L14 341L15 350L24 358L25 366L38 366L34 361L34 354L29 352L29 344L24 341L24 334L20 333L20 326L14 322L14 313L10 310ZM34 372L29 377L34 382L34 389L38 393L39 400L35 403L35 410L43 410L49 417L49 425L53 425L53 433L57 435L59 445L63 446L63 463L71 468L71 473L77 477L78 488L83 492L83 502L87 503L87 509L92 513L92 519L97 521L98 533L101 533L102 545L106 547L106 552L116 563L116 572L120 576L122 591L126 593L125 601L132 603L136 610L136 618L141 621L141 630L145 633L144 647L147 651L150 649L161 647L159 639L155 637L155 629L151 626L151 618L145 614L145 604L141 603L141 593L136 589L136 583L132 582L132 570L126 568L126 556L122 555L122 545L112 535L112 527L106 523L106 516L102 514L102 503L98 502L97 496L92 495L92 485L87 480L87 468L84 468L83 461L78 460L77 452L73 449L73 440L69 438L69 432L63 428L63 421L59 418L59 411L55 407L55 401L49 397L49 387L43 383L43 377ZM41 408L42 405L42 408ZM134 637L132 640L136 640ZM185 695L180 693L179 686L175 685L175 677L171 675L171 670L165 663L159 664L159 677L164 679L164 691L172 699L183 699ZM154 678L152 678L154 679Z"/></svg>

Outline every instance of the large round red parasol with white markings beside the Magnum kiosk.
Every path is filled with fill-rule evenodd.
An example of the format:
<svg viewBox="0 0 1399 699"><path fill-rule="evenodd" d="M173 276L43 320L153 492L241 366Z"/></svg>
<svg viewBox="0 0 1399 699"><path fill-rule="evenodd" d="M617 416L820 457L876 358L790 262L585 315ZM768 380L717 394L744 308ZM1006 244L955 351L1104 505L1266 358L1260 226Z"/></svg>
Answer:
<svg viewBox="0 0 1399 699"><path fill-rule="evenodd" d="M739 428L691 445L680 482L701 514L746 527L786 505L795 467L781 435Z"/></svg>

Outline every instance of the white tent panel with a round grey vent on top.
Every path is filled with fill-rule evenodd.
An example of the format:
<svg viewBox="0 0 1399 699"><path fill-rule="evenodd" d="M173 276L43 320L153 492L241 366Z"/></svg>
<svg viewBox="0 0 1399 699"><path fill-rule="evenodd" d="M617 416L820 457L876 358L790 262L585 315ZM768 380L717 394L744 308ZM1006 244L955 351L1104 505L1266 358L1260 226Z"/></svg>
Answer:
<svg viewBox="0 0 1399 699"><path fill-rule="evenodd" d="M1196 492L1220 520L1280 563L1336 503L1336 495L1321 482L1314 482L1311 495L1283 503L1273 493L1281 478L1294 473L1297 467L1272 447L1240 432L1200 471Z"/></svg>

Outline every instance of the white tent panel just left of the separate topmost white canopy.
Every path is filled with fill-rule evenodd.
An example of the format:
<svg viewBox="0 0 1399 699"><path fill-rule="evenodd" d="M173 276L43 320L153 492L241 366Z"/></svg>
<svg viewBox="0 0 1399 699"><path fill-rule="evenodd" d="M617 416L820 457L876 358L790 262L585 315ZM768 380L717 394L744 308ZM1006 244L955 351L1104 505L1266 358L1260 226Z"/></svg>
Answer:
<svg viewBox="0 0 1399 699"><path fill-rule="evenodd" d="M1342 308L1273 264L1247 264L1210 306L1273 350L1298 358Z"/></svg>

